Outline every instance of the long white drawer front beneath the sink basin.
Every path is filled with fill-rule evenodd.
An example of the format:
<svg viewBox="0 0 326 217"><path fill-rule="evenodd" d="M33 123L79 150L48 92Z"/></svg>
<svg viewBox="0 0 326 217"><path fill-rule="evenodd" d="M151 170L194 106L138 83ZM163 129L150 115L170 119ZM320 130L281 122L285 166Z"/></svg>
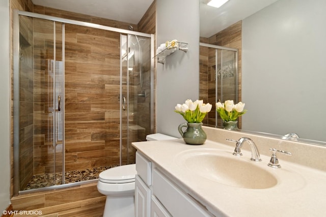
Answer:
<svg viewBox="0 0 326 217"><path fill-rule="evenodd" d="M153 170L153 194L172 216L213 216L193 198L183 193L156 168Z"/></svg>

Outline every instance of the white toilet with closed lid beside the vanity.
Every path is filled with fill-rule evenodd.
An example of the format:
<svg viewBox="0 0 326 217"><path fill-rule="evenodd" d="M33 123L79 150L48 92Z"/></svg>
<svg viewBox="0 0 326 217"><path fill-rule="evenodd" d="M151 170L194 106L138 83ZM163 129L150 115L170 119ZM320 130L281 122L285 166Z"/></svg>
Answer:
<svg viewBox="0 0 326 217"><path fill-rule="evenodd" d="M176 139L156 133L146 136L147 141ZM134 177L136 165L123 165L99 174L97 190L106 195L103 217L134 216Z"/></svg>

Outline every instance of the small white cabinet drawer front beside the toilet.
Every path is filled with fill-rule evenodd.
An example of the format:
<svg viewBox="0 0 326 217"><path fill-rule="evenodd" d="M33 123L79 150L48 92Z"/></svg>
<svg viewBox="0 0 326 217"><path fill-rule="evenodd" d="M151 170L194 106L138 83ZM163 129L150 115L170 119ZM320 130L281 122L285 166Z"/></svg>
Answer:
<svg viewBox="0 0 326 217"><path fill-rule="evenodd" d="M150 186L152 184L152 163L138 151L136 152L136 170L143 181Z"/></svg>

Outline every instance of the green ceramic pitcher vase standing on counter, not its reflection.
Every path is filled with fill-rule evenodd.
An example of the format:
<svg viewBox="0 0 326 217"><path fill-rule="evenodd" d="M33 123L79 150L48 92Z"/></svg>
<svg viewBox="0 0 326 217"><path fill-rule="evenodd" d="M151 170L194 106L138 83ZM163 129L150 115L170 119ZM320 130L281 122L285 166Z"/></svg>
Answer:
<svg viewBox="0 0 326 217"><path fill-rule="evenodd" d="M201 145L207 139L205 131L202 129L203 123L181 123L178 131L181 134L183 141L189 145ZM182 131L182 128L187 128Z"/></svg>

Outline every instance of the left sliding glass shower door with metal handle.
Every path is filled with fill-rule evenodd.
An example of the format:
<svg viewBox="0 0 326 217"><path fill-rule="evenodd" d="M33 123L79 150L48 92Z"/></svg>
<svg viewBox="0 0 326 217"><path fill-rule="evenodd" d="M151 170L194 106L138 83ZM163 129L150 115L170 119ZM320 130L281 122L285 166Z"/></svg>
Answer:
<svg viewBox="0 0 326 217"><path fill-rule="evenodd" d="M16 193L62 183L62 29L62 23L19 16L19 69L13 84Z"/></svg>

